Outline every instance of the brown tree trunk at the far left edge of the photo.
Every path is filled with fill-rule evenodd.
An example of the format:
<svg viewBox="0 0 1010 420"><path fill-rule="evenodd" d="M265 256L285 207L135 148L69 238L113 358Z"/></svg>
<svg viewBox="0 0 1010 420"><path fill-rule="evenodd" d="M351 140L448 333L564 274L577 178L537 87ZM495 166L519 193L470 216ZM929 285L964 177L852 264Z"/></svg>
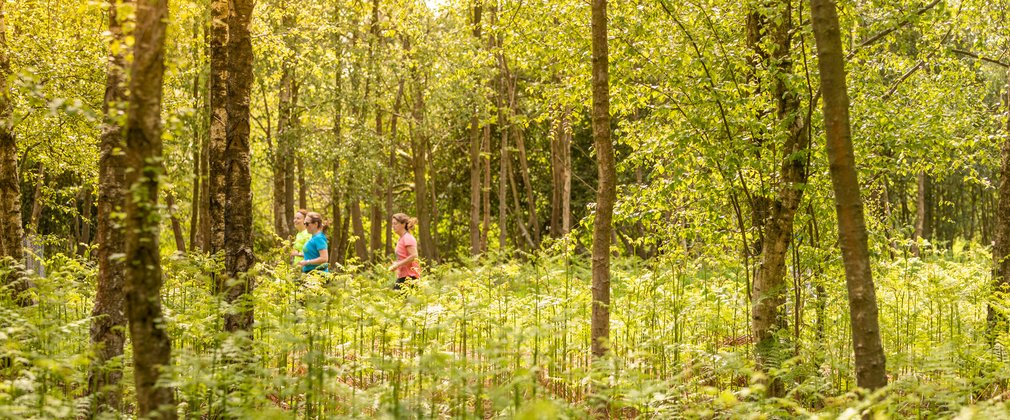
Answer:
<svg viewBox="0 0 1010 420"><path fill-rule="evenodd" d="M0 4L0 258L20 264L24 256L21 249L21 186L17 175L17 141L14 138L14 107L7 80L10 78L10 60L7 46L7 15ZM0 281L13 292L14 300L28 305L32 299L23 296L30 289L26 280L19 279L17 271L8 267L11 274Z"/></svg>

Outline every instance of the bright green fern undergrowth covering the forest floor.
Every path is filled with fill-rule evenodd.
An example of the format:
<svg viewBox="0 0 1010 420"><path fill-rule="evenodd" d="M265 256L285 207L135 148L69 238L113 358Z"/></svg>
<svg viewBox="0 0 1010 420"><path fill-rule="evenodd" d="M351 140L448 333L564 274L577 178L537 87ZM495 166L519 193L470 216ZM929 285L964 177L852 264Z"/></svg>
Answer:
<svg viewBox="0 0 1010 420"><path fill-rule="evenodd" d="M791 350L770 373L780 398L754 369L748 279L730 256L615 260L613 354L593 362L581 256L440 265L403 293L379 266L302 277L262 264L255 330L229 335L229 308L209 293L215 262L175 255L164 261L167 383L185 417L583 418L599 402L624 418L1010 417L1010 339L985 334L987 249L878 258L890 385L871 395L853 391L840 264L803 261L785 308ZM0 305L0 418L88 408L96 270L58 255L36 279L38 305ZM126 401L129 360L127 347Z"/></svg>

